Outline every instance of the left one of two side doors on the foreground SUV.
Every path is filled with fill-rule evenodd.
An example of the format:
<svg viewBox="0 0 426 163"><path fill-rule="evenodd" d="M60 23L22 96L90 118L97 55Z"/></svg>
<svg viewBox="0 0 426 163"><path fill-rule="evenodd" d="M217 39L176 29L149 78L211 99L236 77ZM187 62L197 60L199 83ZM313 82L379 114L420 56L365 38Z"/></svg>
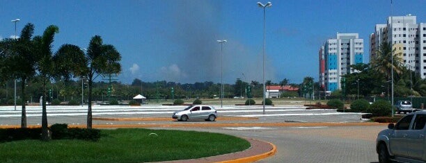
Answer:
<svg viewBox="0 0 426 163"><path fill-rule="evenodd" d="M396 123L394 130L390 133L389 148L390 152L398 156L407 156L409 150L407 146L407 136L413 119L413 114L407 115Z"/></svg>

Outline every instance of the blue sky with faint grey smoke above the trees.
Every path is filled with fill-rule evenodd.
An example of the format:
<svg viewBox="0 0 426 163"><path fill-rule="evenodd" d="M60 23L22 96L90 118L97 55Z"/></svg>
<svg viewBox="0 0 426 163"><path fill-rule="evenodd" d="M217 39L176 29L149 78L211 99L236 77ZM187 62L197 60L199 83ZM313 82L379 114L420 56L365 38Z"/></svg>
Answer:
<svg viewBox="0 0 426 163"><path fill-rule="evenodd" d="M113 44L122 55L123 83L134 78L178 83L236 78L262 82L263 10L251 0L156 1L0 1L0 38L11 37L19 18L42 35L51 24L59 27L54 51L62 44L87 48L93 35ZM267 3L267 1L261 1ZM364 39L364 62L369 62L370 33L386 24L390 0L281 0L266 10L265 78L278 83L288 78L301 83L318 78L319 46L336 33L359 33ZM426 23L425 0L393 0L393 15L416 15ZM243 76L244 74L244 76Z"/></svg>

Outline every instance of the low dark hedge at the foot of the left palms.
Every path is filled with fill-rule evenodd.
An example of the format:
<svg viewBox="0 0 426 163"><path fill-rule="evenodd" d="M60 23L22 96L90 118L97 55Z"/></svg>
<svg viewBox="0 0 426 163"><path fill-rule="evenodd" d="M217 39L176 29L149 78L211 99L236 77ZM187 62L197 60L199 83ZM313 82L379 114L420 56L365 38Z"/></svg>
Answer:
<svg viewBox="0 0 426 163"><path fill-rule="evenodd" d="M52 139L97 141L101 137L98 129L68 128L67 124L54 124L49 130L52 132ZM0 142L41 139L41 132L41 128L0 128Z"/></svg>

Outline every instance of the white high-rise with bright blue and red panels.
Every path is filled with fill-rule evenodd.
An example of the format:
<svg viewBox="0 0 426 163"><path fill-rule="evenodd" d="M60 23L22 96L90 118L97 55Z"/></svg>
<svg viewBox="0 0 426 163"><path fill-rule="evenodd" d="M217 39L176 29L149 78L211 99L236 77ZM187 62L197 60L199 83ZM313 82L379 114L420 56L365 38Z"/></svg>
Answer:
<svg viewBox="0 0 426 163"><path fill-rule="evenodd" d="M319 83L326 91L341 89L342 76L354 72L350 65L363 62L364 40L358 33L338 33L319 49Z"/></svg>

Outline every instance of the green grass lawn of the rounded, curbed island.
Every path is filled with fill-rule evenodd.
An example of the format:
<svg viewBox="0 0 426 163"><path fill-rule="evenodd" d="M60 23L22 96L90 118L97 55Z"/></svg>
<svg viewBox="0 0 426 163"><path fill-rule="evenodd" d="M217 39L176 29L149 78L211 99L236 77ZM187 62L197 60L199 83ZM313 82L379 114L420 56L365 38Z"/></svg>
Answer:
<svg viewBox="0 0 426 163"><path fill-rule="evenodd" d="M159 162L221 155L249 147L244 139L219 133L120 128L102 130L100 141L0 143L0 162Z"/></svg>

